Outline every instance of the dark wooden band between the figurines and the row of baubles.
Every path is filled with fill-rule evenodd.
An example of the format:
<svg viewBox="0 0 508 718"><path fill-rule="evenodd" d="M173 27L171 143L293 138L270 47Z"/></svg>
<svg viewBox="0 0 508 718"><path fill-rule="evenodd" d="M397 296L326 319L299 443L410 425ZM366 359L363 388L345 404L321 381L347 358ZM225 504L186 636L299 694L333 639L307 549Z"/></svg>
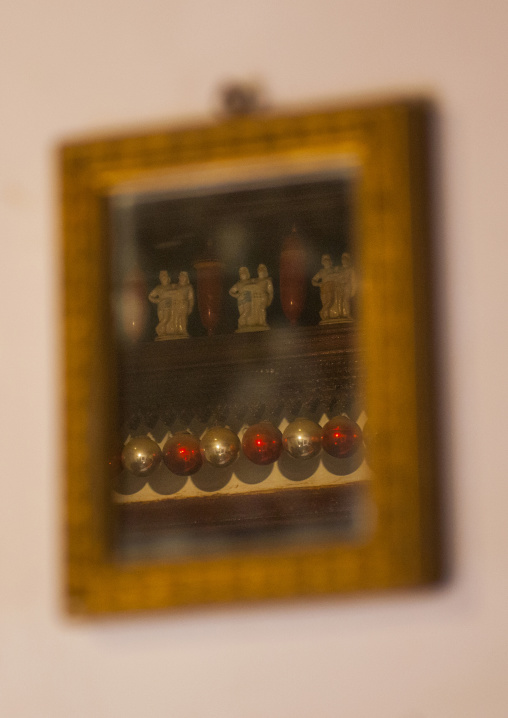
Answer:
<svg viewBox="0 0 508 718"><path fill-rule="evenodd" d="M358 332L329 324L140 343L120 354L118 377L131 427L347 412L362 378Z"/></svg>

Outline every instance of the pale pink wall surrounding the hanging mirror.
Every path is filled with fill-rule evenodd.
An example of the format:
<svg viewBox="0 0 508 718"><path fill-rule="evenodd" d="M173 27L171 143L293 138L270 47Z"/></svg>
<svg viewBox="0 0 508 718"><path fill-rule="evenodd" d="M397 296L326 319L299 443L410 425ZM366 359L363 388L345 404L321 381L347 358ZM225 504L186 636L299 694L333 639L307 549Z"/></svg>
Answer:
<svg viewBox="0 0 508 718"><path fill-rule="evenodd" d="M505 718L505 0L17 0L0 43L2 718ZM76 624L59 611L53 149L276 103L423 91L441 114L440 291L453 581L360 600Z"/></svg>

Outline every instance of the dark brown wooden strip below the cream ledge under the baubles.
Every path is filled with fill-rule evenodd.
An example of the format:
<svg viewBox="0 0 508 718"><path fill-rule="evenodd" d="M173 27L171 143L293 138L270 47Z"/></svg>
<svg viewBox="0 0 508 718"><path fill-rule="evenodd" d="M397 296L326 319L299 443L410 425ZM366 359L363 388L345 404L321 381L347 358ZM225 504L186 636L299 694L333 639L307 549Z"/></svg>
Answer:
<svg viewBox="0 0 508 718"><path fill-rule="evenodd" d="M190 553L207 553L225 540L237 549L249 541L273 541L295 531L325 537L340 533L351 537L359 529L359 507L368 487L362 483L321 488L287 488L255 494L166 499L116 506L117 530L123 553L132 547L158 551L177 542L179 555L187 544ZM301 537L299 541L301 542ZM165 543L167 542L167 543ZM182 544L182 542L184 542ZM151 549L150 549L151 547Z"/></svg>

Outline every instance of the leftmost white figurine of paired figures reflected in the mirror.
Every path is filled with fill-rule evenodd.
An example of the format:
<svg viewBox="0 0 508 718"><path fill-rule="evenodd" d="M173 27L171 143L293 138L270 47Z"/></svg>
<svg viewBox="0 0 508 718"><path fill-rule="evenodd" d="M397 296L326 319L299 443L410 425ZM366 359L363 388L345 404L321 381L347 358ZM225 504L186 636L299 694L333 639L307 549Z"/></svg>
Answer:
<svg viewBox="0 0 508 718"><path fill-rule="evenodd" d="M187 272L180 272L178 284L171 284L169 274L162 270L160 284L152 289L148 299L157 305L159 323L155 341L188 337L187 318L194 308L194 290Z"/></svg>

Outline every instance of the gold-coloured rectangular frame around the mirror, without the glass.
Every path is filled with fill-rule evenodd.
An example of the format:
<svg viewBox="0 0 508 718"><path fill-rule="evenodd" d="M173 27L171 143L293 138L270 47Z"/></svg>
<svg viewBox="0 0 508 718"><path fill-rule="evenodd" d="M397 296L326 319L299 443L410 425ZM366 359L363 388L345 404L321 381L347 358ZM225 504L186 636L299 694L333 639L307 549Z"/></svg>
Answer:
<svg viewBox="0 0 508 718"><path fill-rule="evenodd" d="M66 597L99 614L436 581L442 571L429 334L428 107L400 102L261 114L78 141L61 150L65 307ZM122 183L199 163L354 157L377 522L361 544L128 564L110 557L105 466L115 412L104 200Z"/></svg>

